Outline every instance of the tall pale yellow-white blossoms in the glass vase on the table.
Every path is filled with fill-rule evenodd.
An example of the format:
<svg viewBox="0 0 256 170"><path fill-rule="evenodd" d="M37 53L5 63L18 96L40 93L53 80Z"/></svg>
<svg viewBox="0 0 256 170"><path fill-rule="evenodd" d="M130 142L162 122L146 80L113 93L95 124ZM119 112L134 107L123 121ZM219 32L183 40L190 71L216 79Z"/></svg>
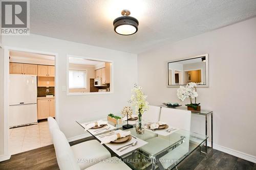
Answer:
<svg viewBox="0 0 256 170"><path fill-rule="evenodd" d="M135 107L136 114L143 114L148 110L148 102L146 101L147 96L143 94L142 88L135 84L132 89L131 106Z"/></svg>

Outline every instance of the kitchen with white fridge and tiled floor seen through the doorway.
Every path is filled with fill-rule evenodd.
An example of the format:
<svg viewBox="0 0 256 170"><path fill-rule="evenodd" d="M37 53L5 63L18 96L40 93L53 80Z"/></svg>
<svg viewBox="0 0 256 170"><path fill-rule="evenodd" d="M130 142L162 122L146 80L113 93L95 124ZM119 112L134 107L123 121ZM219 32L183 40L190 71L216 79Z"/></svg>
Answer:
<svg viewBox="0 0 256 170"><path fill-rule="evenodd" d="M9 150L17 154L52 144L55 56L9 52Z"/></svg>

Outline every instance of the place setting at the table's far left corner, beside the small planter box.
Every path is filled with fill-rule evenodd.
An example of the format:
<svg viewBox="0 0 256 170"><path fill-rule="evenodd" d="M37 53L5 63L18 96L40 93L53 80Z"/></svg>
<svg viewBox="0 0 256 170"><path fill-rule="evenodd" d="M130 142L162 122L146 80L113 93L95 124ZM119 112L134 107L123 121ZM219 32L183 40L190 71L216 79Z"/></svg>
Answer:
<svg viewBox="0 0 256 170"><path fill-rule="evenodd" d="M103 120L98 120L96 122L90 122L86 124L81 124L84 127L85 131L90 132L91 134L100 134L106 131L111 131L116 129L116 127L108 124L108 122Z"/></svg>

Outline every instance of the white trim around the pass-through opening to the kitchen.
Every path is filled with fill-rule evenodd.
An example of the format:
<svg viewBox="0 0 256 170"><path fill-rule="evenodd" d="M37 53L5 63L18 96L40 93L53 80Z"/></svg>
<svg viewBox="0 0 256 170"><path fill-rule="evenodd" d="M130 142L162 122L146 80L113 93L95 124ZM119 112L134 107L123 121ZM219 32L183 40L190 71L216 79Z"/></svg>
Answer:
<svg viewBox="0 0 256 170"><path fill-rule="evenodd" d="M69 58L74 57L74 58L82 58L82 59L88 59L88 60L97 60L97 61L103 61L103 62L110 62L112 63L110 67L110 75L111 75L111 80L110 80L110 92L78 92L78 93L70 93L69 92ZM67 85L66 85L66 91L67 95L92 95L92 94L113 94L114 93L114 74L113 74L113 65L114 62L111 60L104 60L100 58L91 58L91 57L83 57L83 56L75 56L75 55L67 55Z"/></svg>

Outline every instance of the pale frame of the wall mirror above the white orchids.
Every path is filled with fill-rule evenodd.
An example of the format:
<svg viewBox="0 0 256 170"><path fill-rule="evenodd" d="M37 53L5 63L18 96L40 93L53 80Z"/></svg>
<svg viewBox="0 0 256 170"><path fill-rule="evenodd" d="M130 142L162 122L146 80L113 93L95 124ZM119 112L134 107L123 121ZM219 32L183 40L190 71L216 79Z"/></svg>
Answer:
<svg viewBox="0 0 256 170"><path fill-rule="evenodd" d="M168 63L169 62L177 62L177 61L182 61L182 60L187 60L187 59L194 59L194 58L199 58L199 57L205 57L205 77L206 77L206 85L198 85L197 87L209 87L209 56L208 54L202 54L202 55L198 55L198 56L193 56L193 57L188 57L188 58L182 58L182 59L178 59L178 60L172 60L172 61L168 61L166 63L167 65L167 87L180 87L180 86L185 86L185 85L168 85Z"/></svg>

